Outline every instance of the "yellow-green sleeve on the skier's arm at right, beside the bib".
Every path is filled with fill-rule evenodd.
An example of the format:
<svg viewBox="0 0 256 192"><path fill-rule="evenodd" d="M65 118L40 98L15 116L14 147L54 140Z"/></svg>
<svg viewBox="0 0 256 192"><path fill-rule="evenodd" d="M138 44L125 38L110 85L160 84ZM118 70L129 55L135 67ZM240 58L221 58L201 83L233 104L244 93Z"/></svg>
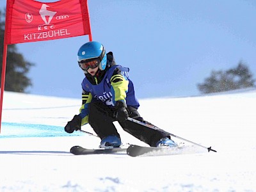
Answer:
<svg viewBox="0 0 256 192"><path fill-rule="evenodd" d="M110 79L111 83L111 94L112 94L112 101L115 106L115 102L117 100L122 100L125 102L126 93L128 91L129 80L127 77L123 76L121 70L116 68L113 72L113 75Z"/></svg>

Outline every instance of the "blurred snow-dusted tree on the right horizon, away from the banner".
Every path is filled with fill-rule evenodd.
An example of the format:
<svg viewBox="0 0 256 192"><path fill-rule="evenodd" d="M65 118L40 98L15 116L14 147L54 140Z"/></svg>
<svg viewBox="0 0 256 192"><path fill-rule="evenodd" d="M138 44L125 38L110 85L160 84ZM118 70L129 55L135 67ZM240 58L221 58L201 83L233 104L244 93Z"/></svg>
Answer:
<svg viewBox="0 0 256 192"><path fill-rule="evenodd" d="M249 68L240 61L237 67L225 72L222 70L212 71L211 76L197 86L201 93L216 93L253 87L254 83L255 80Z"/></svg>

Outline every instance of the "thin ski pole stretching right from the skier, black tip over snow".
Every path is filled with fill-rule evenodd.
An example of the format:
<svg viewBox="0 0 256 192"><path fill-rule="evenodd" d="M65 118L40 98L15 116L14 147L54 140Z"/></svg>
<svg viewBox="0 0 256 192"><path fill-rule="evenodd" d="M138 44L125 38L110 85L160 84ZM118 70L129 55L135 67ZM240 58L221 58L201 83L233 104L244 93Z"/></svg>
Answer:
<svg viewBox="0 0 256 192"><path fill-rule="evenodd" d="M164 132L164 133L166 133L166 134L168 134L168 135L170 135L170 136L173 136L173 137L178 138L178 139L180 139L180 140L187 141L187 142L189 142L189 143L193 143L194 145L197 145L197 146L199 146L199 147L206 148L206 149L208 150L208 152L210 152L211 150L212 150L213 152L217 152L216 150L213 150L211 147L204 147L204 146L202 146L202 145L200 145L200 144L198 144L198 143L194 143L193 141L189 141L189 140L186 140L186 139L184 139L184 138L180 138L179 136L176 136L175 134L172 134L172 133L170 133L170 132L166 132L166 131L164 131L163 129L160 129L160 128L154 126L154 125L149 125L149 124L146 124L146 123L144 123L144 122L140 122L140 121L138 121L138 120L136 120L136 119L134 119L134 118L131 118L131 117L128 117L127 120L129 120L130 122L134 122L134 123L136 123L136 124L143 125L144 127L148 127L148 128L150 128L150 129L154 129L154 130L157 130L157 131Z"/></svg>

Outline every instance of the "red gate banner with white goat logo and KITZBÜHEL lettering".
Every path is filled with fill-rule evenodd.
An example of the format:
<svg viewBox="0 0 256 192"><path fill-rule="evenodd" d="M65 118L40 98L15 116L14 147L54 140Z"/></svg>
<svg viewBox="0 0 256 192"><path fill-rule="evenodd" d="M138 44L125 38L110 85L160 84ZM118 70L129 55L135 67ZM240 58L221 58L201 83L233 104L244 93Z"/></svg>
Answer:
<svg viewBox="0 0 256 192"><path fill-rule="evenodd" d="M38 1L7 0L6 44L91 34L87 0Z"/></svg>

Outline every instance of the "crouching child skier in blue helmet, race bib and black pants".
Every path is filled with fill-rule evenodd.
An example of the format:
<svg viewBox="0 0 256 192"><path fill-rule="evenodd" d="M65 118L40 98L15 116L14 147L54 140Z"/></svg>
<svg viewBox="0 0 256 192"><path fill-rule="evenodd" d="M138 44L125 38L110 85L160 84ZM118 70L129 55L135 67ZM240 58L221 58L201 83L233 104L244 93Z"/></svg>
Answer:
<svg viewBox="0 0 256 192"><path fill-rule="evenodd" d="M151 147L177 146L169 135L127 120L131 117L150 124L137 111L140 104L128 78L129 68L116 65L112 52L106 54L99 42L88 42L80 47L77 61L85 74L83 103L79 115L65 126L66 132L72 133L81 129L81 125L90 124L101 139L100 148L120 147L120 135L113 124L117 120L124 131Z"/></svg>

